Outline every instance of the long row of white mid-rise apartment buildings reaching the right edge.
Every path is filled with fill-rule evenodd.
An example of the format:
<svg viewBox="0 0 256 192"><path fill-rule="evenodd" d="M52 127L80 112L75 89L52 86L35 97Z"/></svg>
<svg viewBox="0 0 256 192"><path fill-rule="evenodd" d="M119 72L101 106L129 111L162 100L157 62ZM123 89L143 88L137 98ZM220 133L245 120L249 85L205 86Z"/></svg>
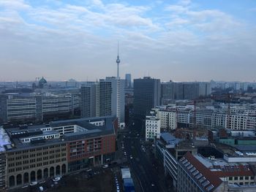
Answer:
<svg viewBox="0 0 256 192"><path fill-rule="evenodd" d="M226 106L198 107L194 105L184 106L160 106L155 107L157 117L161 120L161 128L227 128L230 130L255 130L256 110L237 110L239 107L230 107L230 115L227 115ZM176 115L175 115L176 114ZM229 120L229 123L227 123Z"/></svg>

